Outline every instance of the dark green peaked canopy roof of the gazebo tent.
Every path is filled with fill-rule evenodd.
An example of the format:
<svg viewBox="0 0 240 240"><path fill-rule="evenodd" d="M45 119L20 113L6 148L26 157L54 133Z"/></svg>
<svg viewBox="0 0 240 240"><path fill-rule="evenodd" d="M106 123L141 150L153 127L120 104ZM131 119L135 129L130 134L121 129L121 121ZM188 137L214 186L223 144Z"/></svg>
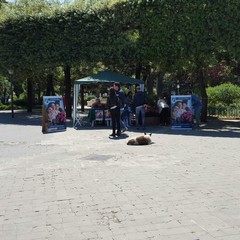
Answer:
<svg viewBox="0 0 240 240"><path fill-rule="evenodd" d="M105 70L97 74L93 74L92 76L75 80L74 84L88 85L88 84L113 83L113 82L119 82L122 84L132 84L132 85L144 84L143 80L124 76L120 73L112 72L110 70Z"/></svg>

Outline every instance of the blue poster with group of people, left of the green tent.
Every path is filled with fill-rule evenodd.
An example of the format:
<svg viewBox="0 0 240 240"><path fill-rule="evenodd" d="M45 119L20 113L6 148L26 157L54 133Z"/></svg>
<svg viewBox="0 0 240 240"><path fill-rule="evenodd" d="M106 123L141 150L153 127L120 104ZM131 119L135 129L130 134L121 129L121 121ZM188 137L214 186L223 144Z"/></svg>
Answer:
<svg viewBox="0 0 240 240"><path fill-rule="evenodd" d="M62 96L43 96L42 132L66 130L66 112Z"/></svg>

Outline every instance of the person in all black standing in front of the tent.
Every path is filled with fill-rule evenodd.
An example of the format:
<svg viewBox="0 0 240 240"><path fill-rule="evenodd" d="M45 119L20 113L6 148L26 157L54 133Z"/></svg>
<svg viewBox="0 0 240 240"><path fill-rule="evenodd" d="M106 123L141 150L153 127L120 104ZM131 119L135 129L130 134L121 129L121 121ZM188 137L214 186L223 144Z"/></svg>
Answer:
<svg viewBox="0 0 240 240"><path fill-rule="evenodd" d="M120 99L116 95L115 89L112 87L109 90L109 96L107 98L107 106L109 108L111 119L112 119L112 134L110 137L121 135L120 127ZM117 127L117 129L116 129ZM117 134L116 134L117 130Z"/></svg>

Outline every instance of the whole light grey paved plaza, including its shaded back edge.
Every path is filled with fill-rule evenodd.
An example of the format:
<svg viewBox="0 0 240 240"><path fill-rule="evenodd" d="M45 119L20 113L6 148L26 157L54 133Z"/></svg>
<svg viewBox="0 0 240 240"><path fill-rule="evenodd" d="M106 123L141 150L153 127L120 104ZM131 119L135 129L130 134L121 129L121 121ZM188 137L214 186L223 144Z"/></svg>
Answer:
<svg viewBox="0 0 240 240"><path fill-rule="evenodd" d="M239 240L240 122L42 134L0 113L1 240Z"/></svg>

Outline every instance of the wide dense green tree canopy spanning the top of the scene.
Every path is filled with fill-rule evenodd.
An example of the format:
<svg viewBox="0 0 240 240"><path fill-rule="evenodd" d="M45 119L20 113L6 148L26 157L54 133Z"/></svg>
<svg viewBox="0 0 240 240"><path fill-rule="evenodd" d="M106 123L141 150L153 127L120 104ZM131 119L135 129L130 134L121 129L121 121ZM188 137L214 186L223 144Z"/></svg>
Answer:
<svg viewBox="0 0 240 240"><path fill-rule="evenodd" d="M171 73L188 76L179 78L182 85L192 76L207 99L208 69L222 61L239 66L238 0L3 2L2 72L95 63L130 75L139 70L147 81L153 71Z"/></svg>

